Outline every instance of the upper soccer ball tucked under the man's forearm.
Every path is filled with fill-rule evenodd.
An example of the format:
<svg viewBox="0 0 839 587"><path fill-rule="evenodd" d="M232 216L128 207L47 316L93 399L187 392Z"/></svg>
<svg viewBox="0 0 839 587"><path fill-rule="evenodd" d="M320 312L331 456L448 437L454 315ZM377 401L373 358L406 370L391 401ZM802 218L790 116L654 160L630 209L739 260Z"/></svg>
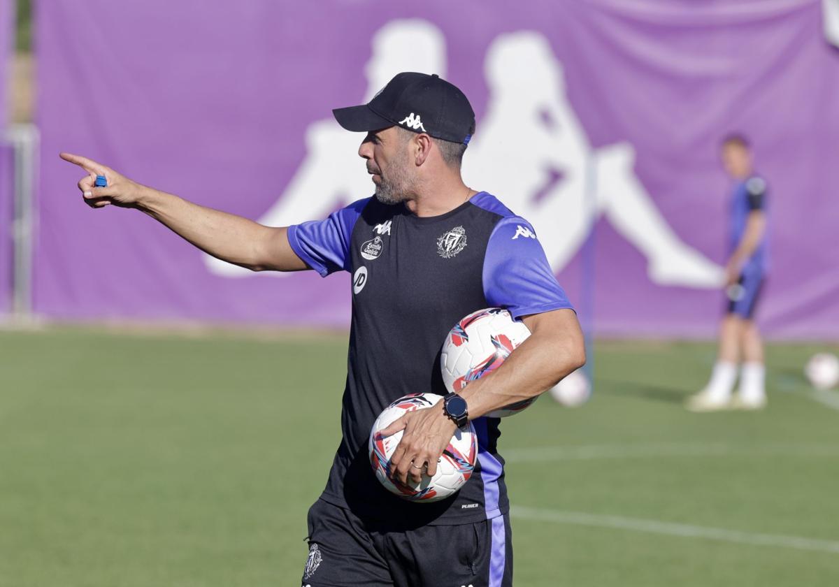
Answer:
<svg viewBox="0 0 839 587"><path fill-rule="evenodd" d="M506 309L479 309L461 319L446 335L440 351L440 370L450 392L460 392L469 382L480 379L498 366L530 335ZM536 398L513 403L487 413L489 418L512 416L528 408Z"/></svg>

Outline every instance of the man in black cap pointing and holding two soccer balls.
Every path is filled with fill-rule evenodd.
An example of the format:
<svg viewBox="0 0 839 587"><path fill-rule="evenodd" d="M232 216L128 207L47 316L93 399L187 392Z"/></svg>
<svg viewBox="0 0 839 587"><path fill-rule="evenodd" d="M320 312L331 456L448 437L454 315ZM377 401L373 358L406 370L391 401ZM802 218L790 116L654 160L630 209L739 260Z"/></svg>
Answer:
<svg viewBox="0 0 839 587"><path fill-rule="evenodd" d="M352 274L343 437L326 489L309 512L303 584L511 585L500 420L484 414L539 395L582 365L576 314L533 226L463 183L461 159L475 115L456 86L437 75L401 73L369 103L334 114L347 130L366 132L358 154L375 195L324 221L283 228L191 204L87 158L61 157L86 170L79 187L88 205L143 210L227 262L254 271ZM95 187L96 175L106 177L107 187ZM447 393L440 346L459 319L487 307L508 309L532 334L492 377ZM455 496L434 503L386 491L367 455L378 414L416 392L446 397L386 430L404 433L391 460L399 481L434 475L457 426L472 421L478 436L472 477Z"/></svg>

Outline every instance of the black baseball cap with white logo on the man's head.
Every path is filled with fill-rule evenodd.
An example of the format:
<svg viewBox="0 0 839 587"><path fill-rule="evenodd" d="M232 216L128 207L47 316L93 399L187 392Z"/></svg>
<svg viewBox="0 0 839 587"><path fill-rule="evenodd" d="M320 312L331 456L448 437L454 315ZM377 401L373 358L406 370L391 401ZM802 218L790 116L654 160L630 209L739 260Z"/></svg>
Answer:
<svg viewBox="0 0 839 587"><path fill-rule="evenodd" d="M466 96L436 74L404 71L367 104L336 108L332 114L341 127L353 132L397 126L463 144L475 132L475 112Z"/></svg>

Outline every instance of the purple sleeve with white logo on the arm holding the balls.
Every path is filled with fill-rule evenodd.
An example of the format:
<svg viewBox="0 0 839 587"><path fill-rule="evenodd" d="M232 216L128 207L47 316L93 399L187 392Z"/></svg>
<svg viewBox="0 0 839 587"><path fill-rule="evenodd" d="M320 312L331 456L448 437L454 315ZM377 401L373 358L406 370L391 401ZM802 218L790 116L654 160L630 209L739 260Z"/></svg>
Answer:
<svg viewBox="0 0 839 587"><path fill-rule="evenodd" d="M483 292L492 307L506 308L513 318L570 308L536 240L533 226L519 216L499 221L483 260Z"/></svg>

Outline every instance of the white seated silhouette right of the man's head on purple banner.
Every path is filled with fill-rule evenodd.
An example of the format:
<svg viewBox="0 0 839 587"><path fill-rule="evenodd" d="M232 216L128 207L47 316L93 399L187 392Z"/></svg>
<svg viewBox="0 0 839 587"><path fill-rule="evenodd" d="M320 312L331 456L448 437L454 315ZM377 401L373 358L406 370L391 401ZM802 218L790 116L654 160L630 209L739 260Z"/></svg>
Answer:
<svg viewBox="0 0 839 587"><path fill-rule="evenodd" d="M499 35L485 74L489 102L464 158L466 184L488 186L531 221L555 271L605 215L647 257L652 282L720 286L722 268L681 241L638 181L632 145L591 148L545 37Z"/></svg>

